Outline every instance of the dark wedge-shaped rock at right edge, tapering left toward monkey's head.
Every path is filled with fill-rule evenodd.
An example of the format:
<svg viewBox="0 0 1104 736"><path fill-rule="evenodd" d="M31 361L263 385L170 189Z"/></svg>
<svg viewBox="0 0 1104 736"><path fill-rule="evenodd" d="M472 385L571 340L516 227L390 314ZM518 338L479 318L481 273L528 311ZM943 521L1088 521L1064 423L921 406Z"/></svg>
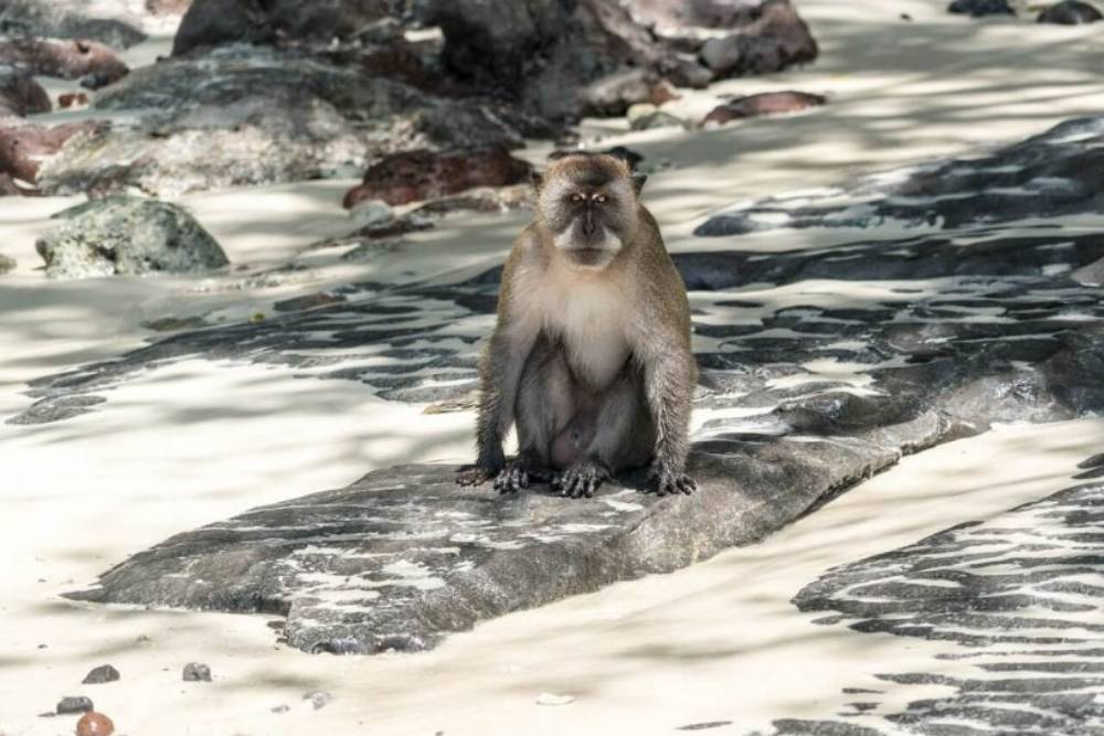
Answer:
<svg viewBox="0 0 1104 736"><path fill-rule="evenodd" d="M1104 117L1081 118L980 158L869 177L822 198L761 200L710 217L694 232L741 235L777 228L874 227L890 221L949 230L1096 212L1104 206L1102 171Z"/></svg>

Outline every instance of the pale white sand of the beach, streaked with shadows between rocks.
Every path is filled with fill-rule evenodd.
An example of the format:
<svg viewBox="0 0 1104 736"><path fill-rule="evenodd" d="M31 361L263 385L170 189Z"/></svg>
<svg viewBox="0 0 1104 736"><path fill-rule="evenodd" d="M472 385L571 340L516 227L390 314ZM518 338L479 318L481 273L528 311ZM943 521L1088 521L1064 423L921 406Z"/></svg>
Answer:
<svg viewBox="0 0 1104 736"><path fill-rule="evenodd" d="M951 18L945 0L797 4L821 42L816 65L688 93L676 107L704 113L719 93L786 88L826 93L828 107L693 134L625 135L616 121L587 124L606 136L603 146L671 160L652 177L648 201L672 249L728 245L690 232L741 198L975 151L1104 108L1096 68L1104 36L1095 28ZM159 36L131 57L151 58L164 44ZM182 203L248 275L352 230L340 207L351 183L212 192ZM20 263L0 277L0 417L31 402L25 381L140 345L151 335L144 320L236 319L354 279L475 273L501 259L524 218L456 217L362 264L311 257L307 282L276 289L230 289L238 273L50 281L36 270L35 233L76 201L0 200L0 252ZM839 237L802 231L742 245L813 247ZM183 362L114 390L93 414L0 424L0 733L70 733L71 719L34 717L68 694L91 695L131 736L646 734L703 721L762 727L772 717L829 715L840 686L861 684L877 662L931 668L942 644L813 626L787 602L800 586L832 564L1058 490L1104 435L1104 423L1086 420L932 450L763 545L508 616L415 657L312 658L275 646L264 617L120 611L59 597L199 524L394 462L468 455L470 415L423 416L422 407L375 399L357 383L290 373ZM137 643L141 634L151 641ZM212 666L214 683L180 682L193 660ZM105 662L121 682L79 684ZM335 695L317 713L299 703L314 689ZM575 700L537 705L543 692ZM268 710L285 703L291 712Z"/></svg>

